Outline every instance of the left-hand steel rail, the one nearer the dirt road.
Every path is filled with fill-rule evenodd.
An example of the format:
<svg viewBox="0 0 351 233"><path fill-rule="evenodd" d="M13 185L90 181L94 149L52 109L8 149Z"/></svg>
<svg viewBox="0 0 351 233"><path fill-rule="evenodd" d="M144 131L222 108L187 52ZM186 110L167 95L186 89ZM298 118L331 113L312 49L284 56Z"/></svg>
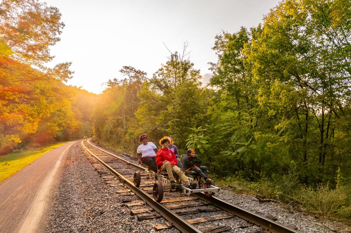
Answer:
<svg viewBox="0 0 351 233"><path fill-rule="evenodd" d="M89 141L88 141L89 143ZM150 205L155 211L159 212L162 217L164 217L167 221L169 221L173 226L177 227L179 231L181 232L188 232L188 233L202 233L198 228L194 227L190 223L188 223L184 218L180 217L178 214L174 213L170 209L168 209L166 206L161 205L158 202L155 202L154 199L148 195L144 190L141 190L137 187L134 186L132 182L130 182L127 178L119 174L116 170L108 166L104 161L100 160L97 156L95 156L88 148L86 148L83 144L83 141L81 142L82 146L88 151L91 156L95 158L104 168L106 168L111 174L113 174L116 177L120 177L123 180L123 183L130 189L132 190L138 197L140 197L146 204ZM90 143L89 143L90 144ZM92 145L93 146L93 145ZM110 153L108 153L110 154ZM117 156L118 157L118 156ZM119 157L118 157L119 158ZM126 160L125 160L126 161ZM126 161L128 164L130 162ZM139 167L139 166L138 166ZM144 169L143 167L140 167Z"/></svg>

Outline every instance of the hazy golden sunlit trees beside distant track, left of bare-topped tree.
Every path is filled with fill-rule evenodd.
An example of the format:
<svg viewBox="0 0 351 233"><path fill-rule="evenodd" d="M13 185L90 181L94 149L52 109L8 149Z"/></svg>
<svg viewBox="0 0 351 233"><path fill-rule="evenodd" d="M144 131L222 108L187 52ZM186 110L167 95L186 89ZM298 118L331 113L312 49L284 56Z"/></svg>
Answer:
<svg viewBox="0 0 351 233"><path fill-rule="evenodd" d="M100 143L132 153L138 144L138 121L134 117L140 104L137 93L146 80L146 72L123 66L120 73L126 78L108 80L108 88L95 105L94 134Z"/></svg>

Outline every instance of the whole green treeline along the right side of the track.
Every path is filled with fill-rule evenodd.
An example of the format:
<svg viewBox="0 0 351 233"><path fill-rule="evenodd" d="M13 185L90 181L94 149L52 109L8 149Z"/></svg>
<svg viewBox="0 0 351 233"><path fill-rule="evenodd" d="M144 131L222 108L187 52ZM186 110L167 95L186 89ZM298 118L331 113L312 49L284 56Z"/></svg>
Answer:
<svg viewBox="0 0 351 233"><path fill-rule="evenodd" d="M138 135L173 135L219 178L350 183L351 2L286 0L263 24L222 31L202 87L186 47L152 78L131 66L94 108L100 143L135 154ZM277 178L280 177L280 178Z"/></svg>

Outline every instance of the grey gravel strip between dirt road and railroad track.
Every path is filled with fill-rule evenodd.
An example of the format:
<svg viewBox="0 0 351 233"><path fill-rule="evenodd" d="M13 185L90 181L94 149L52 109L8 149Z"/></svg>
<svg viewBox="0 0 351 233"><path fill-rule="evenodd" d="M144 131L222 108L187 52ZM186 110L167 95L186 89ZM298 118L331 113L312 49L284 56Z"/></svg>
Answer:
<svg viewBox="0 0 351 233"><path fill-rule="evenodd" d="M47 232L121 232L152 233L165 219L138 221L122 200L140 200L123 196L116 187L106 185L80 148L74 144L66 157L61 181L53 198ZM171 228L161 232L179 232Z"/></svg>

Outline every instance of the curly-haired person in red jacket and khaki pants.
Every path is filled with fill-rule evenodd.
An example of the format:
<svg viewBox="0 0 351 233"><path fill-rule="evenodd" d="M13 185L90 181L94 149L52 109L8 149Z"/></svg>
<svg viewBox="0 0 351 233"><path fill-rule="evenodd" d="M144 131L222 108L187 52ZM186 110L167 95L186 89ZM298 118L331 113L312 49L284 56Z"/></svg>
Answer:
<svg viewBox="0 0 351 233"><path fill-rule="evenodd" d="M196 183L191 183L184 172L177 166L178 161L176 155L174 155L172 150L168 149L170 144L171 140L169 137L165 136L161 138L160 145L163 146L163 148L159 149L156 154L156 164L157 167L160 167L159 171L167 171L172 189L176 188L172 171L178 175L180 180L183 181L188 188L195 189Z"/></svg>

